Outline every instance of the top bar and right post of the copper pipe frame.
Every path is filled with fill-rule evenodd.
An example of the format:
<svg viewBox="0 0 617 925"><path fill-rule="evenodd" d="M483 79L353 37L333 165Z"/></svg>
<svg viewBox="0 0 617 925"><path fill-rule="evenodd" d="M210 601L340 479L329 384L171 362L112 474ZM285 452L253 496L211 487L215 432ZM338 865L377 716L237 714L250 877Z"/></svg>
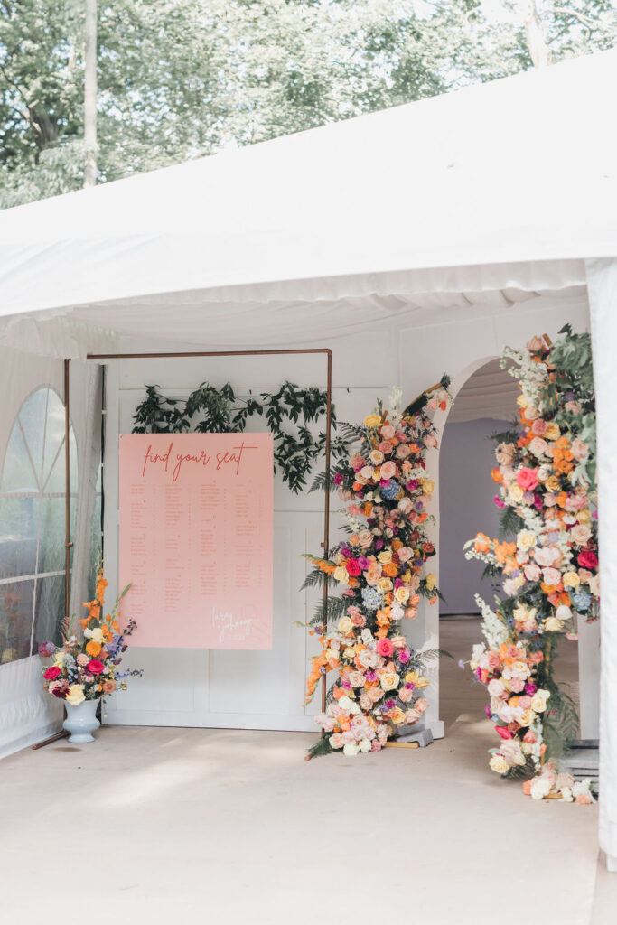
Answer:
<svg viewBox="0 0 617 925"><path fill-rule="evenodd" d="M179 353L88 353L88 360L167 360L173 357L190 359L191 357L205 356L293 356L299 354L325 353L327 356L327 387L326 387L326 486L324 499L324 557L327 558L330 545L330 450L332 430L332 351L328 347L315 347L306 350L232 350L232 351L182 351ZM65 361L68 363L68 361ZM322 630L327 632L327 580L324 577L324 624ZM321 709L326 709L327 681L326 675L322 678Z"/></svg>

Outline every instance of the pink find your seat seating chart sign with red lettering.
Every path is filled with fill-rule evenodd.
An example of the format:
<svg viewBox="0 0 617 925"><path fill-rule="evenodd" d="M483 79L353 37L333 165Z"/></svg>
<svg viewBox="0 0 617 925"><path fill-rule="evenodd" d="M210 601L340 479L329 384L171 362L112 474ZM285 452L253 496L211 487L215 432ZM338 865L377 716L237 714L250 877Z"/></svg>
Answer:
<svg viewBox="0 0 617 925"><path fill-rule="evenodd" d="M132 645L272 648L272 435L121 434L119 467Z"/></svg>

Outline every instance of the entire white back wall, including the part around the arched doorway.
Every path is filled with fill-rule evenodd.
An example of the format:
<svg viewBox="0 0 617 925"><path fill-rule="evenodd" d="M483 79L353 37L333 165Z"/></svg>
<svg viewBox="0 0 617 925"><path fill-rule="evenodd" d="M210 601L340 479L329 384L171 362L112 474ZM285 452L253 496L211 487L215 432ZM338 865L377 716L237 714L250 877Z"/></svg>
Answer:
<svg viewBox="0 0 617 925"><path fill-rule="evenodd" d="M444 300L447 296L444 296ZM310 310L310 309L308 309ZM562 297L559 293L538 296L512 311L485 304L468 310L440 312L438 322L401 331L385 325L371 333L357 334L290 347L331 347L333 350L334 401L340 420L364 418L376 400L386 399L392 384L400 384L411 401L438 381L442 373L452 377L454 394L476 369L498 357L503 346L523 346L537 333L555 337L571 322L577 329L588 325L586 295ZM124 348L147 351L147 340L125 341ZM185 349L199 349L186 345ZM160 350L161 348L158 347ZM168 350L181 346L168 345ZM202 347L201 349L207 349ZM233 349L233 345L229 345ZM117 435L130 431L131 415L142 397L144 383L158 383L165 392L186 395L208 379L214 385L231 381L234 388L276 388L285 378L299 385L325 385L325 359L312 357L253 357L208 360L115 361L107 376L107 434L105 458L105 564L114 585L117 569ZM443 427L447 413L438 412ZM427 461L429 474L438 483L439 451ZM275 648L272 653L173 652L170 649L134 650L133 663L145 674L127 694L113 697L107 705L107 721L115 723L228 726L272 729L316 729L311 720L315 707L304 709L303 692L310 655L309 641L293 627L294 620L310 616L312 595L300 595L304 550L319 550L322 538L323 499L317 495L296 498L281 485L275 489L276 557ZM334 499L334 508L339 506ZM439 510L437 484L432 505ZM481 529L478 524L476 529ZM438 524L429 531L438 545ZM331 538L338 539L336 517ZM439 553L430 569L439 580ZM441 579L441 584L443 580ZM424 603L418 617L403 629L416 646L438 648L438 605ZM598 671L597 628L583 627L581 649L586 650L582 697L596 696ZM586 693L585 693L586 691ZM438 712L438 670L431 672L427 690L426 722L434 735L443 734ZM593 715L594 710L591 711ZM590 734L590 733L587 733Z"/></svg>

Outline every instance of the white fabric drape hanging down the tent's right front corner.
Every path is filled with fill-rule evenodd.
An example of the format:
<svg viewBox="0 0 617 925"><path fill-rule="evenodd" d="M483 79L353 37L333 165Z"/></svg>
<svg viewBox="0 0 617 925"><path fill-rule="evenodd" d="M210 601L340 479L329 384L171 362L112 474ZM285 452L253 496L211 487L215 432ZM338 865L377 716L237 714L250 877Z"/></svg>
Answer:
<svg viewBox="0 0 617 925"><path fill-rule="evenodd" d="M617 428L615 344L617 260L586 265L598 425L598 512L601 593L599 843L617 870Z"/></svg>

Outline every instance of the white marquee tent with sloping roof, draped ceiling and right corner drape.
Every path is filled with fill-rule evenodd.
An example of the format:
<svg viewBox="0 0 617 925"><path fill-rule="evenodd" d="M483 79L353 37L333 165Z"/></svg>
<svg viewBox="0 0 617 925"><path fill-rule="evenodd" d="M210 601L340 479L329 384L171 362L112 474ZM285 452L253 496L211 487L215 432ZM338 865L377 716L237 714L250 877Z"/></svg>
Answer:
<svg viewBox="0 0 617 925"><path fill-rule="evenodd" d="M351 370L358 361L345 350L360 345L358 357L370 356L377 336L386 337L379 376L365 376L365 388L398 378L411 392L452 367L460 388L545 319L556 330L557 319L590 316L600 841L617 864L617 129L607 105L616 76L617 51L606 52L6 210L0 388L19 408L29 376L57 375L41 364L156 342L327 341ZM77 440L92 449L98 384L85 364L76 368ZM6 427L13 404L5 402ZM3 452L7 440L0 433ZM92 467L80 492L93 494ZM24 703L18 709L13 697L14 725L27 725Z"/></svg>

